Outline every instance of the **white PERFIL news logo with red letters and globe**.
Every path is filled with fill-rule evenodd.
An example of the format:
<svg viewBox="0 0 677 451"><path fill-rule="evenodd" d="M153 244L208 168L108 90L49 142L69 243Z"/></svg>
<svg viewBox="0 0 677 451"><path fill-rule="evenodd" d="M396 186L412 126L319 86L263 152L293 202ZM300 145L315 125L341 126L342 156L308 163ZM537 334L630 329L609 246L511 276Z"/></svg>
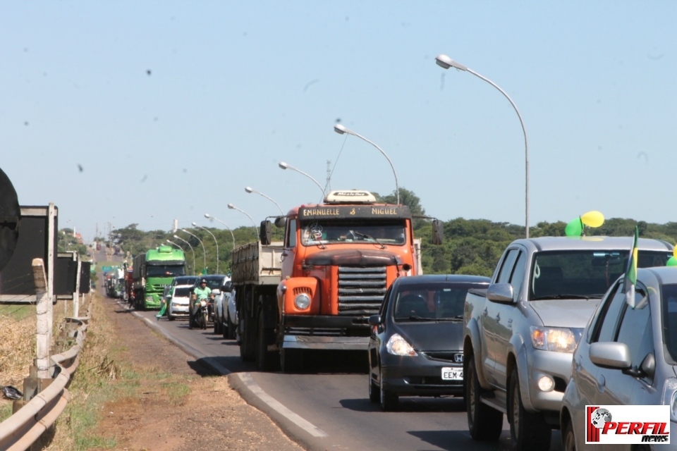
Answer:
<svg viewBox="0 0 677 451"><path fill-rule="evenodd" d="M670 443L670 406L585 406L585 444Z"/></svg>

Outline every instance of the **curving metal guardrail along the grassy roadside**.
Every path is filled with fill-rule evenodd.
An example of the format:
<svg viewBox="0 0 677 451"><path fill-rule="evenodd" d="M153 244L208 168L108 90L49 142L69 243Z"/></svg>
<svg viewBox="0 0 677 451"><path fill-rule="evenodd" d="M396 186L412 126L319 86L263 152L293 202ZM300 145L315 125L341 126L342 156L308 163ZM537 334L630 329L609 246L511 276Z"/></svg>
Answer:
<svg viewBox="0 0 677 451"><path fill-rule="evenodd" d="M70 350L51 356L54 362L49 385L21 409L0 423L0 450L27 450L44 431L59 418L70 399L66 385L80 364L80 350L85 340L87 318L72 319L80 323L75 330L75 345ZM43 386L44 381L43 381Z"/></svg>

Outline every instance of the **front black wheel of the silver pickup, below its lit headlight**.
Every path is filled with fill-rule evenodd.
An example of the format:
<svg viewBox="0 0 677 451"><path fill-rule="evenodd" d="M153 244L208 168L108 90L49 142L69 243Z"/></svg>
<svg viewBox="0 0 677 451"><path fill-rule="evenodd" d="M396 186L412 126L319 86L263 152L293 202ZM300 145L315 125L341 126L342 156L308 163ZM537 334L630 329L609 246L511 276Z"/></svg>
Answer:
<svg viewBox="0 0 677 451"><path fill-rule="evenodd" d="M514 451L542 451L550 449L552 429L540 414L524 409L517 370L510 376L508 391L508 422Z"/></svg>

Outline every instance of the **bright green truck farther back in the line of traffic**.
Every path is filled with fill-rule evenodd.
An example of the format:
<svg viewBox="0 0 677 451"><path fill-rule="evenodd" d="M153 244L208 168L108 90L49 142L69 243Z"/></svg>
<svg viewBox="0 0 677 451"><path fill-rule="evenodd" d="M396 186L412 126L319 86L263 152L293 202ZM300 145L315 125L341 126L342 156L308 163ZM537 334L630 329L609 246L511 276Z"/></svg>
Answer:
<svg viewBox="0 0 677 451"><path fill-rule="evenodd" d="M164 288L176 276L185 276L183 251L169 246L134 257L133 304L138 310L159 309Z"/></svg>

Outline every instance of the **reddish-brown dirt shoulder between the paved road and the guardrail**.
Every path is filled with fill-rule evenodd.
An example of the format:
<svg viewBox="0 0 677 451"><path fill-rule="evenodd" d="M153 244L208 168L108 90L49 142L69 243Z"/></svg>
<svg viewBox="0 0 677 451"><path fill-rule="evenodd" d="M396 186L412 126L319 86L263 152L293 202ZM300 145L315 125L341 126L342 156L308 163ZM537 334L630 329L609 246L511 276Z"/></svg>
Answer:
<svg viewBox="0 0 677 451"><path fill-rule="evenodd" d="M116 450L302 449L246 404L225 376L209 375L111 299L104 304L123 350L118 361L139 374L127 396L104 406L97 426L99 436L115 438Z"/></svg>

